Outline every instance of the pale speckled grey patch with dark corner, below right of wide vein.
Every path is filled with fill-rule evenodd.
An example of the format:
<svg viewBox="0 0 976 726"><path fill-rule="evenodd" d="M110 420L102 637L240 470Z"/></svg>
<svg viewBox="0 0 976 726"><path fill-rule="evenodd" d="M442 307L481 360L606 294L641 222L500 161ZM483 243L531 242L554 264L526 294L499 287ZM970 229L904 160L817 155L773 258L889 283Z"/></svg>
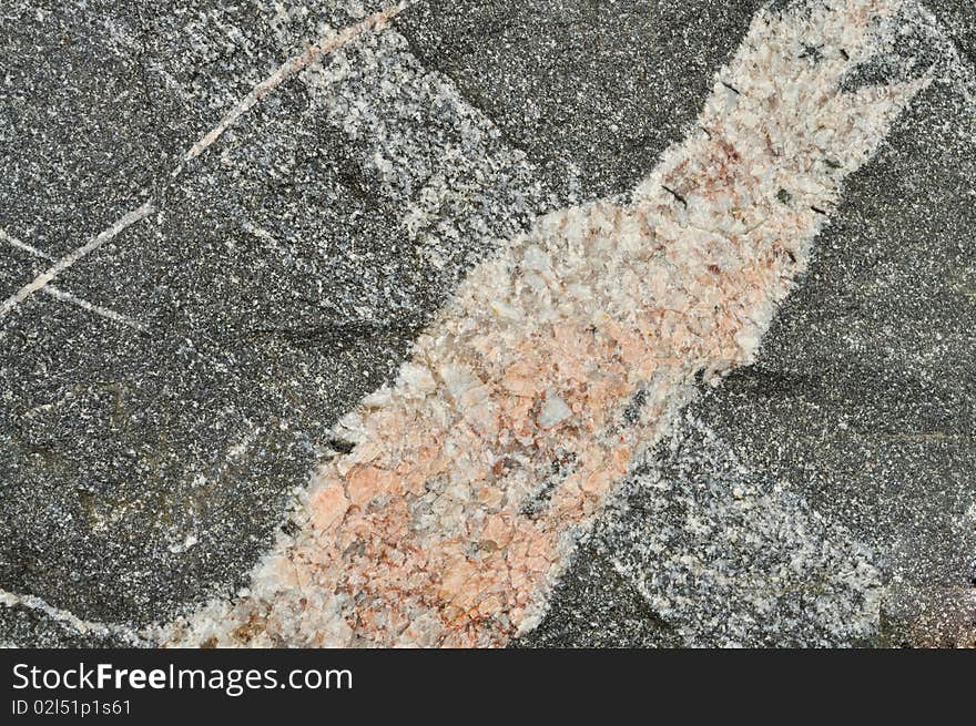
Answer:
<svg viewBox="0 0 976 726"><path fill-rule="evenodd" d="M632 472L521 645L870 642L872 551L751 468L706 413L692 406Z"/></svg>

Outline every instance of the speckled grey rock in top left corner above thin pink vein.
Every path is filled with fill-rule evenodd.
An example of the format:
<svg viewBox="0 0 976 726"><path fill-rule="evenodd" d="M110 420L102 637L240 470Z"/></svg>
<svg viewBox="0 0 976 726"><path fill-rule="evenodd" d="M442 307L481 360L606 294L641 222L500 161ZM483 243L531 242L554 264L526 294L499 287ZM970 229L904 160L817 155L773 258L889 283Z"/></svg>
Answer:
<svg viewBox="0 0 976 726"><path fill-rule="evenodd" d="M0 79L2 224L62 255L139 206L196 139L336 2L278 18L275 2L9 0Z"/></svg>

